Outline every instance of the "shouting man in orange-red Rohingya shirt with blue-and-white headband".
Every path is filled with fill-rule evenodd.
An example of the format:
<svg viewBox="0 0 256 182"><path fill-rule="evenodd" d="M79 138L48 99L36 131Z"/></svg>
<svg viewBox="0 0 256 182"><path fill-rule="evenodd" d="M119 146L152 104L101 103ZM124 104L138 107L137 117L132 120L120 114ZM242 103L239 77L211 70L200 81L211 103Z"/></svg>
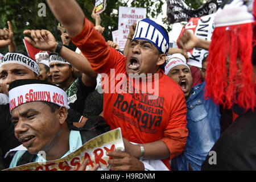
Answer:
<svg viewBox="0 0 256 182"><path fill-rule="evenodd" d="M94 71L104 73L104 118L111 129L121 127L125 152L141 160L163 159L170 169L168 160L184 150L188 130L184 93L160 69L169 48L166 30L150 19L141 20L124 57L108 46L75 1L47 2ZM47 39L37 31L31 36L38 42ZM53 44L52 50L61 50L61 45ZM124 169L120 152L109 155L121 158L109 160L112 169Z"/></svg>

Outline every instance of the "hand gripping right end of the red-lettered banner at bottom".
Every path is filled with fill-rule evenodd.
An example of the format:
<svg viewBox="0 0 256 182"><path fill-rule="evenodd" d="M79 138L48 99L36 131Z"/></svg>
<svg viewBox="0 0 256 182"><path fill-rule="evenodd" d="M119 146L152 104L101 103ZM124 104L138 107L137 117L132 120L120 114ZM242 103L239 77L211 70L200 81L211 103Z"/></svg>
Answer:
<svg viewBox="0 0 256 182"><path fill-rule="evenodd" d="M144 171L144 164L126 152L109 151L106 155L113 157L109 159L111 171Z"/></svg>

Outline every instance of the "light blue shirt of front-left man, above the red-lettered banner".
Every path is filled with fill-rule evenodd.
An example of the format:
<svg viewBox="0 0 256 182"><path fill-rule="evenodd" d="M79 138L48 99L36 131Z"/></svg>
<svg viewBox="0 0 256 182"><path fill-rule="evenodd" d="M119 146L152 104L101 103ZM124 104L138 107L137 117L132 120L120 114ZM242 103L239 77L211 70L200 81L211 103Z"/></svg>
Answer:
<svg viewBox="0 0 256 182"><path fill-rule="evenodd" d="M65 156L69 155L70 153L76 151L78 148L82 146L82 139L79 131L71 130L69 134L69 151L63 155L61 158L64 158ZM20 157L24 154L24 150L17 151L16 154L13 157L13 160L11 160L10 168L16 167L16 164L18 163ZM37 154L34 162L46 162L46 159L43 158L40 154Z"/></svg>

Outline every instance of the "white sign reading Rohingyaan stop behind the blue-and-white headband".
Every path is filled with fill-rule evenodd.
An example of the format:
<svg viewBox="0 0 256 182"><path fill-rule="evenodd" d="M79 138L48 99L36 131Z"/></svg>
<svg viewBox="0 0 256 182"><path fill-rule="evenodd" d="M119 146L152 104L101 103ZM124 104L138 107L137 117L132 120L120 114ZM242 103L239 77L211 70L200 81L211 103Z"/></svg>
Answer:
<svg viewBox="0 0 256 182"><path fill-rule="evenodd" d="M125 48L129 28L133 23L146 18L146 8L119 6L118 17L118 46L121 50Z"/></svg>

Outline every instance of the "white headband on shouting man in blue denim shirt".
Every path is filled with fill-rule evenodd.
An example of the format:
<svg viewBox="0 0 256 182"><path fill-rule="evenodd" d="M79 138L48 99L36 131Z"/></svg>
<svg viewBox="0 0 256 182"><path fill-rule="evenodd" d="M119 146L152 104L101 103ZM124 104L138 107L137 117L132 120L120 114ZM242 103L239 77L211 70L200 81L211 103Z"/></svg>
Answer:
<svg viewBox="0 0 256 182"><path fill-rule="evenodd" d="M166 67L164 67L164 73L167 75L170 72L170 70L176 67L177 65L185 65L186 67L188 67L190 71L190 68L186 63L187 60L183 55L181 55L180 53L174 53L169 57L168 63L166 64Z"/></svg>

